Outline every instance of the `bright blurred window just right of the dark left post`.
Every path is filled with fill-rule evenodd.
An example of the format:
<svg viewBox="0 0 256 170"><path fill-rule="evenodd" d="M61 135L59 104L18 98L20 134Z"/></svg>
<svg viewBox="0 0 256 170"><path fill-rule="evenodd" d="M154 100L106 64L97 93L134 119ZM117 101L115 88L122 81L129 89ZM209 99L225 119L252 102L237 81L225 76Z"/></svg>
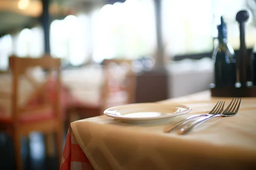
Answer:
<svg viewBox="0 0 256 170"><path fill-rule="evenodd" d="M85 14L69 15L51 23L50 48L53 57L81 65L90 59L89 18Z"/></svg>

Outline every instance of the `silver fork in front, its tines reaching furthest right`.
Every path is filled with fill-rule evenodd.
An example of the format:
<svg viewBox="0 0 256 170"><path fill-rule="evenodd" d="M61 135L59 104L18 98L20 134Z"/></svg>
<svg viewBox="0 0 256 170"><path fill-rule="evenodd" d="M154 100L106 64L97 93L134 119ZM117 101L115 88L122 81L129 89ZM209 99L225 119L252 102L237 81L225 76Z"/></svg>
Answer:
<svg viewBox="0 0 256 170"><path fill-rule="evenodd" d="M203 124L204 122L206 122L209 119L212 119L214 117L218 117L218 116L224 116L224 117L233 117L236 116L236 114L239 111L240 105L241 105L241 98L233 98L232 101L230 102L230 104L227 106L226 110L223 113L220 114L215 114L212 116L206 116L202 119L198 119L197 121L195 121L195 123L193 123L192 125L189 126L184 126L182 127L179 131L178 134L182 135L182 134L186 134L189 132L189 130L191 130L192 128L196 128L199 125Z"/></svg>

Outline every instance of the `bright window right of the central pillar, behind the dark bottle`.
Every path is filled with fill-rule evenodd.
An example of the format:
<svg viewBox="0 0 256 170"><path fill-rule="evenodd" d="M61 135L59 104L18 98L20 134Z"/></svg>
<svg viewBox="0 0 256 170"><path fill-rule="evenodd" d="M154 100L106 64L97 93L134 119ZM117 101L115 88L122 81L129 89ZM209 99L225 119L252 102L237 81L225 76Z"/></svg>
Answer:
<svg viewBox="0 0 256 170"><path fill-rule="evenodd" d="M245 38L247 47L252 48L256 43L256 22L248 1L251 0L163 0L166 52L175 56L212 51L212 39L218 36L217 25L221 15L227 23L228 42L234 49L239 49L236 14L242 9L250 12Z"/></svg>

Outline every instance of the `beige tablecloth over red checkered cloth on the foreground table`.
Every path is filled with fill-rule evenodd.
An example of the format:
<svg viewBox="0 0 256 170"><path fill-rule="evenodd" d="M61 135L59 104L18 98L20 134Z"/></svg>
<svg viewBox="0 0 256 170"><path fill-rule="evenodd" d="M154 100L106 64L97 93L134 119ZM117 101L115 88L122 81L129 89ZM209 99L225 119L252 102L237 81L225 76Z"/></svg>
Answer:
<svg viewBox="0 0 256 170"><path fill-rule="evenodd" d="M256 169L256 98L243 98L235 117L212 119L189 134L163 133L174 123L209 112L218 100L209 91L162 101L192 107L171 122L133 125L107 116L71 124L81 149L96 170ZM226 104L227 106L227 104Z"/></svg>

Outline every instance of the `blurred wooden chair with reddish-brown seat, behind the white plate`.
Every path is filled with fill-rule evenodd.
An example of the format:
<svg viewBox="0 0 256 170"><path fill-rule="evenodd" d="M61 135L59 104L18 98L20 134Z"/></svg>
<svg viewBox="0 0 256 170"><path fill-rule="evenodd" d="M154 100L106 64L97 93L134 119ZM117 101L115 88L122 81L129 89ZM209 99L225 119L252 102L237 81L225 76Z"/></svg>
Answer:
<svg viewBox="0 0 256 170"><path fill-rule="evenodd" d="M100 101L93 104L87 104L86 101L76 102L77 104L70 109L69 117L73 116L73 119L69 122L99 116L109 107L134 102L136 77L132 71L132 60L105 59L103 73Z"/></svg>

